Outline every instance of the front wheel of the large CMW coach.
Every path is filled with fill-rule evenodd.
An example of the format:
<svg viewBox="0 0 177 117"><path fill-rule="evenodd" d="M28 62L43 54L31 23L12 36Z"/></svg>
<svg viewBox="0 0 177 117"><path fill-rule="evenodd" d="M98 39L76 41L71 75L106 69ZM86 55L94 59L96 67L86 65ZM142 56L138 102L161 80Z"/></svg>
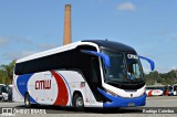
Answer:
<svg viewBox="0 0 177 117"><path fill-rule="evenodd" d="M76 93L73 97L73 107L76 111L84 110L84 100L81 94Z"/></svg>

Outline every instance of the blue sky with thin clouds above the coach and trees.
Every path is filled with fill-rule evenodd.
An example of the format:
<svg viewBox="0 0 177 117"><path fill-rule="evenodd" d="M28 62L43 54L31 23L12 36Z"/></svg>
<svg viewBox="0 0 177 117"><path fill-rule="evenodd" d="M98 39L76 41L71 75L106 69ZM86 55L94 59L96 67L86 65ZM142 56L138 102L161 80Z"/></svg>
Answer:
<svg viewBox="0 0 177 117"><path fill-rule="evenodd" d="M177 0L0 0L0 64L62 46L65 4L72 42L121 42L160 73L177 68Z"/></svg>

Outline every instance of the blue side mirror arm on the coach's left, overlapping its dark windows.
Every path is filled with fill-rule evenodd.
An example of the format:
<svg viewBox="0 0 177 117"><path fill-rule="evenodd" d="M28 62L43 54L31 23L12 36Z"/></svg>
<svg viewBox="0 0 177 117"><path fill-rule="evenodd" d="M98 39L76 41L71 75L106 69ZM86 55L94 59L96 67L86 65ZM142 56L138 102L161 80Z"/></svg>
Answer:
<svg viewBox="0 0 177 117"><path fill-rule="evenodd" d="M102 57L102 59L103 59L103 62L104 62L104 65L105 65L106 67L111 67L110 56L108 56L108 55L103 54L103 53L100 53L100 52L96 52L96 51L87 51L87 50L81 50L81 52L87 53L87 54L92 54L92 55L96 55L96 56L98 56L98 57Z"/></svg>

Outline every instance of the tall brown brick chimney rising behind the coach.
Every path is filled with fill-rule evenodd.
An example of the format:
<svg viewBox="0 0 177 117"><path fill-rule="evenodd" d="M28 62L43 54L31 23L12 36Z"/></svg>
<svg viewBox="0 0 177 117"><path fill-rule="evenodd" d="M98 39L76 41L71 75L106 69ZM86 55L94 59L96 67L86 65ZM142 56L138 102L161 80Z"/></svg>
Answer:
<svg viewBox="0 0 177 117"><path fill-rule="evenodd" d="M63 45L71 43L71 4L65 4Z"/></svg>

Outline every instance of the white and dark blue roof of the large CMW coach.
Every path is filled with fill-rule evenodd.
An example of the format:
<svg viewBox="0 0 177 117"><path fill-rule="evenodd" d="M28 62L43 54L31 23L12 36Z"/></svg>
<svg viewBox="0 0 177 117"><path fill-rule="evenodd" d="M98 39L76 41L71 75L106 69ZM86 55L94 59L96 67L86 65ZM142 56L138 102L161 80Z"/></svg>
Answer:
<svg viewBox="0 0 177 117"><path fill-rule="evenodd" d="M106 40L84 40L84 41L74 42L74 43L71 43L71 44L67 44L67 45L63 45L63 46L60 46L60 47L55 47L55 49L52 49L52 50L48 50L48 51L44 51L44 52L40 52L40 53L37 53L37 54L29 55L27 57L18 60L17 63L21 63L21 62L25 62L25 61L30 61L30 60L56 54L56 53L60 53L60 52L73 50L79 45L85 45L85 44L93 45L93 46L103 46L103 47L107 47L107 49L115 50L115 51L135 52L135 50L133 47L131 47L128 45L125 45L125 44L122 44L122 43L118 43L118 42L106 41Z"/></svg>

